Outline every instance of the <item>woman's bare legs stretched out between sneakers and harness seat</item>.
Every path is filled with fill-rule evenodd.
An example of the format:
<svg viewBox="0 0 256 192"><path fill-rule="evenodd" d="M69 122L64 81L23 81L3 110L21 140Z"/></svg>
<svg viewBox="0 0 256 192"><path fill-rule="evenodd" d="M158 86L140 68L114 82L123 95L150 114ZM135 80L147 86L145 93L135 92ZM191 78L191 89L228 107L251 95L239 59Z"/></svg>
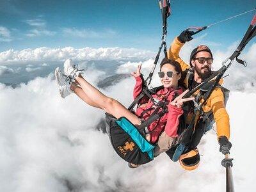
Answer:
<svg viewBox="0 0 256 192"><path fill-rule="evenodd" d="M79 75L76 77L77 83L83 89L84 94L79 90L79 87L76 88L77 95L83 99L87 104L95 108L103 109L106 113L109 113L115 118L120 118L121 116L125 116L128 120L132 122L132 124L140 125L141 121L138 116L131 113L131 111L127 110L120 102L110 97L107 97L103 93L101 93L97 88L92 86L92 84L88 83L83 76ZM71 88L72 89L72 88ZM76 93L75 92L75 93Z"/></svg>

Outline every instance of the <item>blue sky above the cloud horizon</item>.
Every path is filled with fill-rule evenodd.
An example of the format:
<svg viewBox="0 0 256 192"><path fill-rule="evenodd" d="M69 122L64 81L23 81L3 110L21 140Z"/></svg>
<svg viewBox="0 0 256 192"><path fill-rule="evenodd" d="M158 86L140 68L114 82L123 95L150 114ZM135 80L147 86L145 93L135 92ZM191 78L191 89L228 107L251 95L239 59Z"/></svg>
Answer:
<svg viewBox="0 0 256 192"><path fill-rule="evenodd" d="M255 0L172 1L168 44L189 26L205 26L255 8ZM255 12L200 33L216 49L241 40ZM134 47L157 51L157 0L1 0L0 51L36 47ZM255 40L254 40L255 42Z"/></svg>

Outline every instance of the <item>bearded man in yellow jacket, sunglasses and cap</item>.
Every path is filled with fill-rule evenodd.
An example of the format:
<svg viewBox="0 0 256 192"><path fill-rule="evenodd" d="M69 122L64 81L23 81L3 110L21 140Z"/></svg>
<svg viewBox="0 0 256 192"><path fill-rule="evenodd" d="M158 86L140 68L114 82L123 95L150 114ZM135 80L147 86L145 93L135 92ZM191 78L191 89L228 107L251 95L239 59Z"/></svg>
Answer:
<svg viewBox="0 0 256 192"><path fill-rule="evenodd" d="M184 86L190 90L195 88L196 85L202 83L204 79L207 79L207 77L211 76L211 67L213 62L212 52L209 47L205 45L199 45L193 49L190 55L189 65L180 58L180 49L186 42L193 39L191 37L193 34L193 31L189 31L188 29L182 31L182 33L180 33L180 35L173 40L172 45L168 50L168 58L178 61L182 67L182 71L186 73ZM193 72L193 75L191 76L190 74L191 81L189 81L188 74L191 72ZM223 92L224 89L225 88L222 86L217 86L214 88L202 109L204 113L208 113L211 123L214 121L216 122L216 131L218 135L218 142L220 144L220 152L223 154L229 154L229 150L232 147L232 144L230 141L228 141L230 137L230 124L228 113L225 109L225 94ZM200 91L198 90L198 92L195 93L195 97L199 93ZM202 103L204 100L200 100L200 102Z"/></svg>

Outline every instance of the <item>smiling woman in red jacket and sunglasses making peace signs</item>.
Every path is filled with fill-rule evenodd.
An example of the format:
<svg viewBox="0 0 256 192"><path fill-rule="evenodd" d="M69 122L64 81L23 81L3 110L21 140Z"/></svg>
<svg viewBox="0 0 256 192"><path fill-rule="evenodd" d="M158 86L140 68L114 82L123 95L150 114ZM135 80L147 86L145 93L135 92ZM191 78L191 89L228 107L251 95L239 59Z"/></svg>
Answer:
<svg viewBox="0 0 256 192"><path fill-rule="evenodd" d="M142 98L140 100L141 106L136 110L135 114L127 110L117 100L107 97L88 83L81 76L83 72L78 70L70 59L64 63L64 74L61 73L60 68L56 68L55 76L61 97L65 98L74 92L90 106L102 109L106 113L115 116L115 118L124 116L133 125L140 125L141 120L147 120L148 116L154 112L156 102L162 100L169 102L168 113L165 113L159 120L147 127L148 134L146 138L150 143L157 143L157 147L154 149L154 156L158 156L172 146L172 141L177 136L179 116L183 113L181 109L183 102L193 99L182 99L187 91L182 93L182 88L178 87L182 72L179 63L164 58L160 67L159 77L163 88L160 88L156 94L152 95L154 100ZM142 92L143 77L140 70L141 65L138 66L136 72L131 73L131 76L136 79L134 98ZM132 168L137 167L136 164L129 164L129 166Z"/></svg>

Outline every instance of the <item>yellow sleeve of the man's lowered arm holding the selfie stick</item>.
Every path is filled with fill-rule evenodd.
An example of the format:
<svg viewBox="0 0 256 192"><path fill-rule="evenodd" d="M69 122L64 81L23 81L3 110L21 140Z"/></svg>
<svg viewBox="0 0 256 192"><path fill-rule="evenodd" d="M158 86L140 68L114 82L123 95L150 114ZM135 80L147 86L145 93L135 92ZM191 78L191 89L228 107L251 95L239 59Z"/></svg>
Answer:
<svg viewBox="0 0 256 192"><path fill-rule="evenodd" d="M230 137L230 125L229 116L225 109L224 95L221 88L215 88L211 94L211 109L216 122L217 135L226 136L229 140Z"/></svg>

